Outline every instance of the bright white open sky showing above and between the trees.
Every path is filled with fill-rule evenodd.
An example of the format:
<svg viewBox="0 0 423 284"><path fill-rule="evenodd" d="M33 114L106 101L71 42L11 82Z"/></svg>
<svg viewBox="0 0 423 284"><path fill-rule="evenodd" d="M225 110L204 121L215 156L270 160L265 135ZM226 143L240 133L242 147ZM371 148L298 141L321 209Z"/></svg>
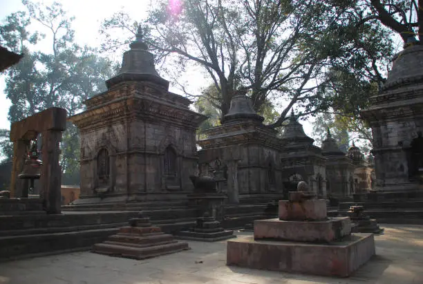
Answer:
<svg viewBox="0 0 423 284"><path fill-rule="evenodd" d="M103 19L111 17L113 13L124 11L129 14L132 19L142 20L147 16L147 10L150 5L150 1L154 0L119 0L119 1L108 1L108 0L62 0L64 10L66 10L68 16L74 16L75 20L72 23L72 28L75 30L75 41L79 45L87 44L88 46L100 46L101 39L98 32L100 24ZM49 5L53 3L51 0L40 1ZM19 10L25 10L20 0L0 0L0 20L6 18L12 12ZM50 46L46 42L40 42L37 48L43 51L48 51ZM122 55L115 55L118 59L122 58ZM160 72L160 70L159 70ZM201 77L203 73L198 70L192 69L187 70L187 73L181 77L182 82L189 84L189 90L191 92L199 93L200 89L209 85L209 80ZM4 82L5 75L0 75L0 129L10 129L10 122L8 122L8 111L10 108L10 100L6 98L4 88L6 87ZM164 76L165 77L165 76ZM165 77L166 79L166 77ZM170 89L175 93L180 93L175 88ZM304 131L310 137L312 135L312 118L308 121L301 121L304 126Z"/></svg>

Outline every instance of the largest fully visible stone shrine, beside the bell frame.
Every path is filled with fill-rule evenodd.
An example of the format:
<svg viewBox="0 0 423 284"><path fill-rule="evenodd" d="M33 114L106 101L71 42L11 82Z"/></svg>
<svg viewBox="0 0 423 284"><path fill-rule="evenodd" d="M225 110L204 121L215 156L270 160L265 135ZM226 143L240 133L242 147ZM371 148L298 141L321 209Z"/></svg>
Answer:
<svg viewBox="0 0 423 284"><path fill-rule="evenodd" d="M81 135L81 195L73 204L181 200L193 189L196 128L205 120L168 91L138 30L108 90L69 118Z"/></svg>

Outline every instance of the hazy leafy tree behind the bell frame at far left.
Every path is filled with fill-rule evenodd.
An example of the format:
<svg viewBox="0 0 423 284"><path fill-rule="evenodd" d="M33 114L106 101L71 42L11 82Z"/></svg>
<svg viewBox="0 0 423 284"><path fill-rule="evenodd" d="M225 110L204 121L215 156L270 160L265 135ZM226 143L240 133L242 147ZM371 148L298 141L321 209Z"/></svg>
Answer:
<svg viewBox="0 0 423 284"><path fill-rule="evenodd" d="M113 63L97 56L95 50L75 43L73 18L66 15L61 4L42 6L26 0L22 3L28 12L13 13L0 26L0 43L25 55L6 72L5 93L12 102L8 118L17 122L53 106L66 108L68 115L73 115L83 108L84 100L104 91L104 80L113 74ZM31 24L37 25L40 32L31 33ZM50 42L50 53L36 49L34 44L40 40ZM66 176L75 177L79 171L79 135L72 124L63 135L62 148L66 180ZM11 153L3 148L3 155Z"/></svg>

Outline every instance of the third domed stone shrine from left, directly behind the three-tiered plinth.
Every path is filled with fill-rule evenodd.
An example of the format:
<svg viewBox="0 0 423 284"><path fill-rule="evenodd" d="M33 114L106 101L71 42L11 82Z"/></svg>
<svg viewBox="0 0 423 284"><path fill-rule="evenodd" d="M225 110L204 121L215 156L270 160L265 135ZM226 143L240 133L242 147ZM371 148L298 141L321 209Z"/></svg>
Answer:
<svg viewBox="0 0 423 284"><path fill-rule="evenodd" d="M285 185L294 190L301 180L310 184L317 195L326 198L326 158L314 140L306 135L294 111L281 137L282 174Z"/></svg>

